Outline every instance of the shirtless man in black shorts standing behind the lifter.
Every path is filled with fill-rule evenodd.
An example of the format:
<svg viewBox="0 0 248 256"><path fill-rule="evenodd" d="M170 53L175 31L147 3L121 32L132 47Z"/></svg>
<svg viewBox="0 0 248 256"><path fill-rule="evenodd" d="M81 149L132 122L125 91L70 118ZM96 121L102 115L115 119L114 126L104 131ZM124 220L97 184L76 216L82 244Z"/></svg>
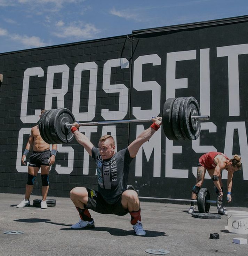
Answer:
<svg viewBox="0 0 248 256"><path fill-rule="evenodd" d="M41 110L41 114L44 114L47 110ZM38 171L41 169L41 181L42 181L42 201L41 209L47 209L47 193L49 189L48 174L50 166L55 162L55 155L57 153L57 145L52 146L52 152L50 151L50 145L46 143L40 136L39 125L35 125L31 129L29 141L22 156L22 163L25 165L26 156L29 153L30 147L33 145L33 154L30 156L29 167L27 169L27 184L25 198L16 207L23 208L30 205L30 195L33 191L34 180Z"/></svg>

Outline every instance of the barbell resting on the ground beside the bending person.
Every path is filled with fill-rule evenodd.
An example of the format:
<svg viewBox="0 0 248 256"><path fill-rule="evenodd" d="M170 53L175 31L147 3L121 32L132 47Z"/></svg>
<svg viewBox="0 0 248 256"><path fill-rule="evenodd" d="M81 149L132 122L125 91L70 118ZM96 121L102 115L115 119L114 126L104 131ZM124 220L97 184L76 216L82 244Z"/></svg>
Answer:
<svg viewBox="0 0 248 256"><path fill-rule="evenodd" d="M134 189L133 186L128 185L128 189ZM207 188L201 188L197 195L197 200L193 199L176 199L176 198L160 198L160 197L146 197L146 196L139 196L139 199L149 199L149 200L168 200L168 201L181 201L181 202L197 202L197 207L199 212L208 212L210 209L210 204L216 204L218 210L223 207L222 198L220 199L219 196L217 200L210 200L210 194Z"/></svg>

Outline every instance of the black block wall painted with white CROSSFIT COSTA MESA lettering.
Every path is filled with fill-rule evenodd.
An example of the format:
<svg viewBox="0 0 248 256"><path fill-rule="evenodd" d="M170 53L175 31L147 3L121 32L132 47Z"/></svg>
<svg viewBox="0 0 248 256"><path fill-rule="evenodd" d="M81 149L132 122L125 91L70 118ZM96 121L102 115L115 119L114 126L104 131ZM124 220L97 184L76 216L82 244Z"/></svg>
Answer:
<svg viewBox="0 0 248 256"><path fill-rule="evenodd" d="M190 198L203 153L239 154L243 166L234 174L230 205L247 206L247 21L133 31L128 37L0 54L0 73L1 193L25 193L27 167L21 156L40 109L69 108L79 121L141 119L161 115L167 98L194 96L201 114L210 115L202 122L200 137L169 141L160 129L132 161L129 183L140 196ZM81 131L94 145L111 133L120 150L149 125L99 125ZM96 188L96 168L88 159L75 140L59 145L49 195L69 196L76 186ZM215 196L208 175L203 187ZM38 175L34 194L40 188Z"/></svg>

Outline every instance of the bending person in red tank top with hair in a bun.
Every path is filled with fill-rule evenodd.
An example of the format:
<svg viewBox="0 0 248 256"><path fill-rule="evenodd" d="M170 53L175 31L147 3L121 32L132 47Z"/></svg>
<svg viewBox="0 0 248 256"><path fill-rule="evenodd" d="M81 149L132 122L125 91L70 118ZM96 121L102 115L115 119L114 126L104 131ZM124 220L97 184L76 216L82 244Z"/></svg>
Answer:
<svg viewBox="0 0 248 256"><path fill-rule="evenodd" d="M191 199L195 200L197 194L202 186L203 180L205 178L206 170L209 176L212 178L216 193L219 197L223 196L221 171L227 170L227 202L232 201L231 190L232 190L232 178L233 173L241 168L241 157L234 155L232 159L228 158L225 154L220 152L208 152L199 158L199 163L197 167L197 180L196 184L192 189ZM194 202L191 203L188 213L194 213L195 206ZM218 214L227 215L225 207L218 210Z"/></svg>

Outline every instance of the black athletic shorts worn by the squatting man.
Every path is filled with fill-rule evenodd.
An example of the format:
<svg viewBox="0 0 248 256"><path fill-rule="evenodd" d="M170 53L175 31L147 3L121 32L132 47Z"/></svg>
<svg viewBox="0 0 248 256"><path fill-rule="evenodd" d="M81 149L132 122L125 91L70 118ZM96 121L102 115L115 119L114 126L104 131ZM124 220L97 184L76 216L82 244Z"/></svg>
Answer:
<svg viewBox="0 0 248 256"><path fill-rule="evenodd" d="M101 214L115 214L119 216L126 215L129 212L128 209L124 209L121 205L121 195L115 204L109 204L98 191L89 188L86 189L88 191L87 209Z"/></svg>

